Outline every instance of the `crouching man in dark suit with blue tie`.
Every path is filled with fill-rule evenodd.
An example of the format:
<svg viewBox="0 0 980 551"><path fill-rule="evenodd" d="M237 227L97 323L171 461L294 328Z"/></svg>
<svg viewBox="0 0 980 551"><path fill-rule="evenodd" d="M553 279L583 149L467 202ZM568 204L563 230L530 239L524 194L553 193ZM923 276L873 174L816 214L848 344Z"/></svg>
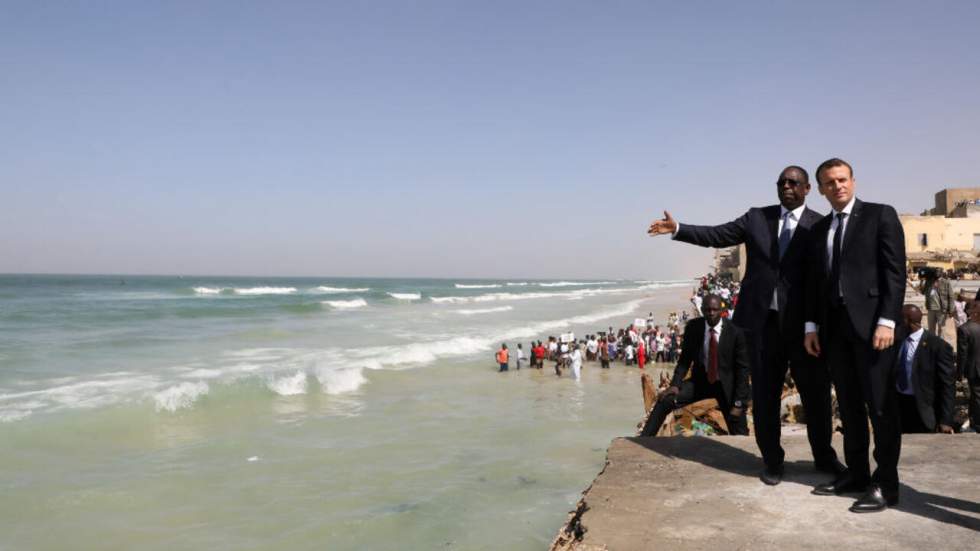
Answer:
<svg viewBox="0 0 980 551"><path fill-rule="evenodd" d="M922 327L922 310L902 308L895 331L895 392L902 432L953 434L953 347Z"/></svg>

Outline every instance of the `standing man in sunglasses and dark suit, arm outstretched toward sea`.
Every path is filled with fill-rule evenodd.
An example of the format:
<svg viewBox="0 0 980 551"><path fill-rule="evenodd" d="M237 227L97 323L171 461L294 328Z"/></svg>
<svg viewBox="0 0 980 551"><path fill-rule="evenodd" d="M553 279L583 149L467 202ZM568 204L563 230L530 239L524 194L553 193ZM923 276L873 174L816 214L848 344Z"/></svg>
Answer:
<svg viewBox="0 0 980 551"><path fill-rule="evenodd" d="M810 229L821 216L806 206L810 181L798 166L783 169L776 180L778 205L749 209L720 226L678 224L670 213L651 224L649 233L673 233L674 239L702 247L745 244L747 268L733 322L745 330L752 364L755 439L765 469L762 480L778 484L783 475L779 445L780 405L787 368L806 411L807 438L819 470L838 474L843 466L830 445L830 375L803 350L803 255Z"/></svg>

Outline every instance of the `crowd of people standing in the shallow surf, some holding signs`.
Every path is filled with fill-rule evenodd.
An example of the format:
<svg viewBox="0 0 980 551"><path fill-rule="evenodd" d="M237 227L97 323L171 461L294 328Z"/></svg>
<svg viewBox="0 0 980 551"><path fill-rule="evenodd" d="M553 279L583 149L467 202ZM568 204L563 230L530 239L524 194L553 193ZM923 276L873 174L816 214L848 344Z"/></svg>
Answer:
<svg viewBox="0 0 980 551"><path fill-rule="evenodd" d="M495 359L501 372L510 370L511 360L516 369L525 363L543 369L546 361L554 362L555 375L567 372L575 379L581 378L584 362L598 362L602 369L609 369L614 363L644 369L648 363L677 361L683 341L681 327L689 319L686 311L671 312L664 325L658 325L651 312L645 320L635 320L618 330L610 326L582 339L576 339L574 333L551 335L546 340L531 341L527 348L518 343L513 353L503 343Z"/></svg>

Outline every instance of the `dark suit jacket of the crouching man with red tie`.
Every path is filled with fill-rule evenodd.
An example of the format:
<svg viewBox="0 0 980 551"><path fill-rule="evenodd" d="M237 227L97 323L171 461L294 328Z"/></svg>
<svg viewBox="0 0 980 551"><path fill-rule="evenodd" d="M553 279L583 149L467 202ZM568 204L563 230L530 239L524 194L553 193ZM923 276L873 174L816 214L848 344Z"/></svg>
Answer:
<svg viewBox="0 0 980 551"><path fill-rule="evenodd" d="M718 379L729 404L735 400L749 401L749 351L745 333L732 322L721 320L721 339L718 341ZM704 318L694 318L684 326L684 344L674 368L672 386L680 386L692 369L707 374L704 364Z"/></svg>

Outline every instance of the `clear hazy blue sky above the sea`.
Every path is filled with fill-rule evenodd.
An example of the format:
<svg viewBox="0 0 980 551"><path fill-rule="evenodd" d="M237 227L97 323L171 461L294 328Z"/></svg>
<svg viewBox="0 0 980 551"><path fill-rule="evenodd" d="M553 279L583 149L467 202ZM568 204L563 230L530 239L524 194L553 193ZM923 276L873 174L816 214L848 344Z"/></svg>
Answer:
<svg viewBox="0 0 980 551"><path fill-rule="evenodd" d="M980 186L980 3L0 3L0 272L674 279L854 166ZM808 204L829 210L814 187Z"/></svg>

